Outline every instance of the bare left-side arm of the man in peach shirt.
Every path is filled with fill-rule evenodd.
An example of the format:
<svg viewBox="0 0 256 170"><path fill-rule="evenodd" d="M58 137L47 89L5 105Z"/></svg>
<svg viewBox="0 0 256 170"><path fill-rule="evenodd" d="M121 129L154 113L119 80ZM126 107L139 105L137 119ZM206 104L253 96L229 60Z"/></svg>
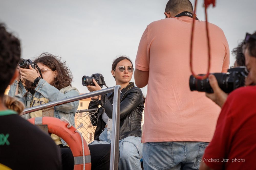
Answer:
<svg viewBox="0 0 256 170"><path fill-rule="evenodd" d="M135 69L134 71L135 84L138 88L143 88L148 83L148 71Z"/></svg>

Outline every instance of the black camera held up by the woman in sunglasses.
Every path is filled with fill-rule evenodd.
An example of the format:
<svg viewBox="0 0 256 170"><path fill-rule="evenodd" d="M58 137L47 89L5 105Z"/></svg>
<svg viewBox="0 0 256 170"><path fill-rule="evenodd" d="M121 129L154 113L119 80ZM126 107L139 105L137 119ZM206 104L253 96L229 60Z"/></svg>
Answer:
<svg viewBox="0 0 256 170"><path fill-rule="evenodd" d="M82 84L83 86L95 86L92 79L96 80L96 82L99 84L99 86L102 88L102 86L106 86L106 83L104 81L104 77L102 74L93 74L91 77L89 76L83 76L82 78Z"/></svg>

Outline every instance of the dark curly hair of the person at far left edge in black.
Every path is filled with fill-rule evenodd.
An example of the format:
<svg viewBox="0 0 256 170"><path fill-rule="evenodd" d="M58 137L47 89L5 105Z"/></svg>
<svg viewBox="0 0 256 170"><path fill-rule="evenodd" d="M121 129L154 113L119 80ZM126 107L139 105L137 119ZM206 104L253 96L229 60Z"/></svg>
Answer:
<svg viewBox="0 0 256 170"><path fill-rule="evenodd" d="M0 23L0 97L10 83L20 59L20 41Z"/></svg>

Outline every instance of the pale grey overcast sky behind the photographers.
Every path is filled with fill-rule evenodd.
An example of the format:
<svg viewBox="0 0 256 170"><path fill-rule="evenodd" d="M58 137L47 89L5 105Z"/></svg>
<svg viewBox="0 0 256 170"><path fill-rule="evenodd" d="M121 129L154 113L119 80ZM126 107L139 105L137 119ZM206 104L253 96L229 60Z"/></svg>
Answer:
<svg viewBox="0 0 256 170"><path fill-rule="evenodd" d="M20 38L22 58L33 59L42 52L61 56L72 71L72 86L87 93L81 84L83 75L101 73L112 87L116 56L125 54L134 64L142 33L151 22L165 18L167 1L0 0L0 22ZM199 20L205 20L202 3L198 0ZM208 21L224 31L230 51L246 32L256 31L255 7L255 0L216 0L216 7L208 9ZM146 87L142 91L146 94Z"/></svg>

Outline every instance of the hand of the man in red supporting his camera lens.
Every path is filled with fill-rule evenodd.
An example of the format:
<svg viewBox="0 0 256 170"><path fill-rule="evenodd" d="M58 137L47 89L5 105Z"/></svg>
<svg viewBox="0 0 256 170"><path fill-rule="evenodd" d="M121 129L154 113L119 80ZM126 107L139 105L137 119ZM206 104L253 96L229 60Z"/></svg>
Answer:
<svg viewBox="0 0 256 170"><path fill-rule="evenodd" d="M222 107L227 100L228 93L225 93L220 89L216 77L212 74L209 75L209 83L214 93L205 93L205 95L214 101L217 105Z"/></svg>

